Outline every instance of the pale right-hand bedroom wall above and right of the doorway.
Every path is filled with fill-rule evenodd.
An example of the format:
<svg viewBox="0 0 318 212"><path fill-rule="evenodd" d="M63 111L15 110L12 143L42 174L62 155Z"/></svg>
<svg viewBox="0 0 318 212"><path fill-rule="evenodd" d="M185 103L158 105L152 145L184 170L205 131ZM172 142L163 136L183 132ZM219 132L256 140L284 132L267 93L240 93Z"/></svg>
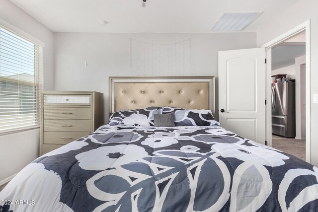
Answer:
<svg viewBox="0 0 318 212"><path fill-rule="evenodd" d="M288 30L311 19L311 163L318 166L318 104L313 103L313 94L318 93L318 1L300 0L280 17L257 31L257 46L273 40Z"/></svg>

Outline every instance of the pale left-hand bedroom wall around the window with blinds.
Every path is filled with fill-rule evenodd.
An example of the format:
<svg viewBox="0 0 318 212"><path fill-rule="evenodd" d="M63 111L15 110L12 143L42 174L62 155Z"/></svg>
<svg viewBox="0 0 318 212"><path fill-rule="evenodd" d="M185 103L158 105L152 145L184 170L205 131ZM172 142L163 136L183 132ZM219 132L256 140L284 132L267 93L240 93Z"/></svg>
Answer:
<svg viewBox="0 0 318 212"><path fill-rule="evenodd" d="M9 0L0 0L0 19L1 24L16 27L45 44L44 89L53 89L53 32ZM39 129L0 136L0 185L38 157L39 142Z"/></svg>

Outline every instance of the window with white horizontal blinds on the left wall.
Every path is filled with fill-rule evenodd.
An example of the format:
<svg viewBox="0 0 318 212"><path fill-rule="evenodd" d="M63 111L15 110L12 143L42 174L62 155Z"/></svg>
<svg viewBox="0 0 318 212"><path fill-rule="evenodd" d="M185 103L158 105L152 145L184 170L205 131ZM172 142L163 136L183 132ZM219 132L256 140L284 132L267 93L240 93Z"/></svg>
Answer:
<svg viewBox="0 0 318 212"><path fill-rule="evenodd" d="M43 48L0 25L0 133L39 126Z"/></svg>

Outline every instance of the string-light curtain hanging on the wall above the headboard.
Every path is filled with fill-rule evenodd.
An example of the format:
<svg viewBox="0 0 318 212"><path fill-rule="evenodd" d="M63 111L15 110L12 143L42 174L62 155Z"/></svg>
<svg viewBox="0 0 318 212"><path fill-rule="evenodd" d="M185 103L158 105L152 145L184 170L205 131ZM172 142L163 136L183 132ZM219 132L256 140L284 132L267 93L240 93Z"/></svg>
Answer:
<svg viewBox="0 0 318 212"><path fill-rule="evenodd" d="M150 44L130 39L130 75L192 75L191 39ZM154 74L155 73L155 74Z"/></svg>

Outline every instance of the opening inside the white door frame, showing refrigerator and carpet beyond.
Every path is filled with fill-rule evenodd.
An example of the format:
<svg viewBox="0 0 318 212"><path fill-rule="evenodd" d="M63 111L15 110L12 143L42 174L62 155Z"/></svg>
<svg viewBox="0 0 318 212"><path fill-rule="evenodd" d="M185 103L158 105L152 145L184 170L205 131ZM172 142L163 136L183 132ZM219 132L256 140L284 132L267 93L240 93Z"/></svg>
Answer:
<svg viewBox="0 0 318 212"><path fill-rule="evenodd" d="M306 32L272 48L272 147L306 160Z"/></svg>

